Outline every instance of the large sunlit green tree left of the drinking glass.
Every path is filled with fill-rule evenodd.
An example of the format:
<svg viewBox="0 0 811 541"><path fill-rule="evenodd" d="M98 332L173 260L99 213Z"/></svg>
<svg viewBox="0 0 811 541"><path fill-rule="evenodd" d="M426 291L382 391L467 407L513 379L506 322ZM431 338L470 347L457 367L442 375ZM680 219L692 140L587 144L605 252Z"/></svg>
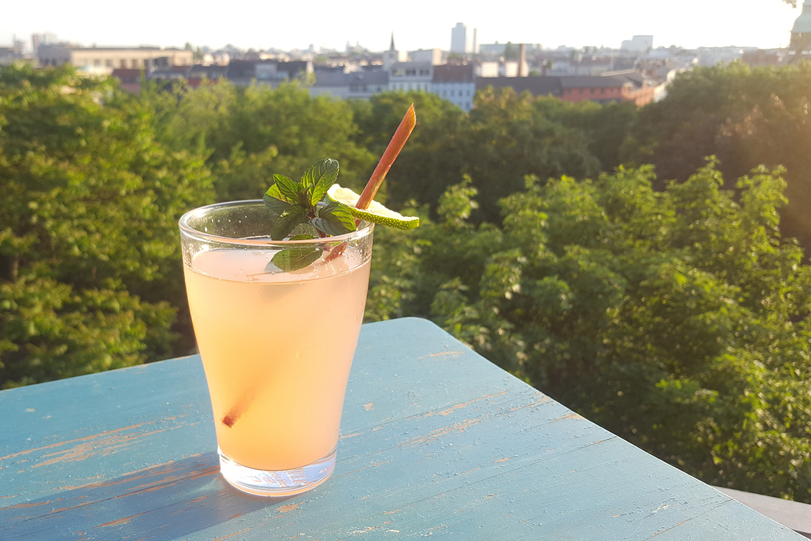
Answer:
<svg viewBox="0 0 811 541"><path fill-rule="evenodd" d="M149 122L109 79L0 71L0 385L174 353L177 219L211 178Z"/></svg>

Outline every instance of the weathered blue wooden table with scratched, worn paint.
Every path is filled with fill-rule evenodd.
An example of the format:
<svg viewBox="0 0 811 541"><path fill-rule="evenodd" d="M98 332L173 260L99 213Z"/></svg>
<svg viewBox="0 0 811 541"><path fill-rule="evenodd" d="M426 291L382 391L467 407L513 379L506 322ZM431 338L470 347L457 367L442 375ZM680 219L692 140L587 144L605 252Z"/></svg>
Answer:
<svg viewBox="0 0 811 541"><path fill-rule="evenodd" d="M0 392L0 539L805 539L424 320L363 326L333 478L218 474L198 357Z"/></svg>

